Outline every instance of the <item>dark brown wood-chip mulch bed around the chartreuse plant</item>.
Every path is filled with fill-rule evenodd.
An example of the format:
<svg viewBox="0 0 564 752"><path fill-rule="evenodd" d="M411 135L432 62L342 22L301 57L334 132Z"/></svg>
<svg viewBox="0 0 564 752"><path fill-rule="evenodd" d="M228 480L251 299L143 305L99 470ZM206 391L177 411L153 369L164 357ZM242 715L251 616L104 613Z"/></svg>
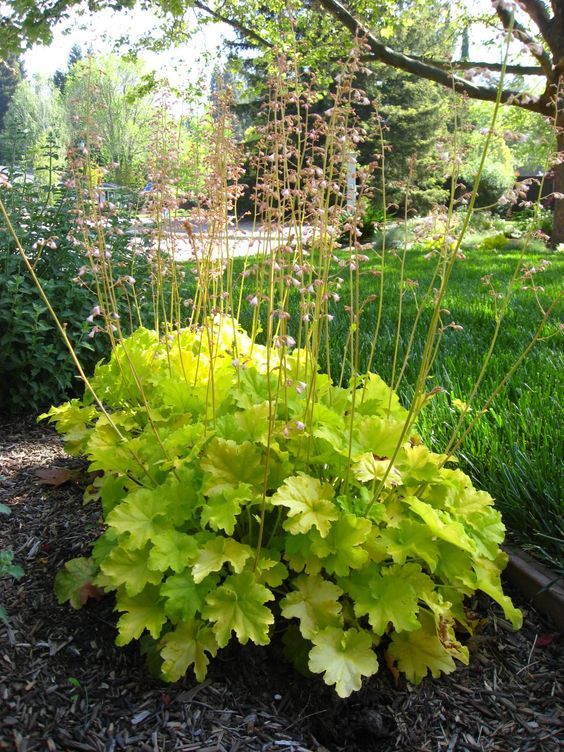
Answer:
<svg viewBox="0 0 564 752"><path fill-rule="evenodd" d="M0 581L0 749L298 750L356 752L556 752L564 744L562 635L527 603L514 633L487 599L470 640L469 667L418 687L395 686L382 666L362 690L339 700L321 679L299 676L275 643L233 646L208 679L152 679L137 647L114 645L111 598L80 611L59 606L53 579L84 555L99 511L83 507L80 484L39 483L37 469L80 467L45 426L0 425L0 549L16 552L25 576Z"/></svg>

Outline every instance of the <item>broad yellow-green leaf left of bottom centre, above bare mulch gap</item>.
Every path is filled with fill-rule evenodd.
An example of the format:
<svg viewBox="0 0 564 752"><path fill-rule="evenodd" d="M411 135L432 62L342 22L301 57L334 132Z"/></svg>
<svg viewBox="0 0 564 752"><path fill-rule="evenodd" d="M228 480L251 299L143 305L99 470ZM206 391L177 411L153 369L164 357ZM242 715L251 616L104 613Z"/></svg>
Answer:
<svg viewBox="0 0 564 752"><path fill-rule="evenodd" d="M213 622L212 629L220 648L227 645L232 632L242 645L249 640L266 645L274 616L264 604L272 600L270 590L259 585L252 572L246 571L230 575L221 587L208 595L202 616Z"/></svg>

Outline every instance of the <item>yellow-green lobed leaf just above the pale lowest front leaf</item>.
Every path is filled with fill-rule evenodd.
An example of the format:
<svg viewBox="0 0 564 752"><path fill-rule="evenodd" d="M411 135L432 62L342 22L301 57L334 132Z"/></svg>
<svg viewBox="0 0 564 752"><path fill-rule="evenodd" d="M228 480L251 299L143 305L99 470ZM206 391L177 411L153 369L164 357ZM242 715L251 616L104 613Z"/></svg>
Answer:
<svg viewBox="0 0 564 752"><path fill-rule="evenodd" d="M319 575L302 574L292 580L295 588L280 601L282 616L300 620L302 636L311 639L325 627L342 627L340 587Z"/></svg>

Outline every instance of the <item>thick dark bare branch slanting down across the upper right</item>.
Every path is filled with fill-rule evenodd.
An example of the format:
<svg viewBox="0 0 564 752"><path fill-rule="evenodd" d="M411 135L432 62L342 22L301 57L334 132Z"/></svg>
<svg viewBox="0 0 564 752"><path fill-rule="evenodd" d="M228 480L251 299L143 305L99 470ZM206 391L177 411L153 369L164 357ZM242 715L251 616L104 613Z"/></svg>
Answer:
<svg viewBox="0 0 564 752"><path fill-rule="evenodd" d="M339 0L317 0L328 13L331 13L338 21L340 21L351 34L360 34L367 45L375 60L378 60L386 65L391 65L394 68L406 71L406 73L413 73L420 78L426 78L429 81L435 81L442 86L446 86L449 89L453 89L460 94L467 94L472 99L481 99L486 102L495 102L497 99L497 90L487 86L477 86L470 81L465 81L459 76L455 76L446 70L443 70L436 65L425 63L416 58L403 55L400 52L393 50L391 47L387 47L374 34L372 34L366 26L359 21L352 13L341 3ZM532 110L533 112L545 112L545 106L542 102L526 97L525 100L521 99L521 93L517 91L511 91L505 89L501 92L501 101L507 104L513 104L522 107L526 110Z"/></svg>

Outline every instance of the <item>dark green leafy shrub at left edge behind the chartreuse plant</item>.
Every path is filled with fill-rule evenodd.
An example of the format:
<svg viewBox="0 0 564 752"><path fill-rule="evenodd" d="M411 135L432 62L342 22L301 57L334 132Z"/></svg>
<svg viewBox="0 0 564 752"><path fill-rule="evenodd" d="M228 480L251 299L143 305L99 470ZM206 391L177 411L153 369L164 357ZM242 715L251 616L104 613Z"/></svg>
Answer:
<svg viewBox="0 0 564 752"><path fill-rule="evenodd" d="M7 200L11 221L34 266L38 280L66 327L76 355L87 373L109 352L106 337L93 337L89 322L99 303L88 262L88 244L97 242L96 228L91 238L76 224L76 195L58 190L53 203L45 203L44 189L17 185ZM112 285L123 328L133 323L127 285L135 265L138 299L144 300L150 284L147 264L132 256L128 247L130 218L111 212L105 218L105 247L112 255ZM79 393L76 368L47 306L18 253L8 229L0 226L0 410L23 412ZM150 317L149 319L150 320Z"/></svg>

